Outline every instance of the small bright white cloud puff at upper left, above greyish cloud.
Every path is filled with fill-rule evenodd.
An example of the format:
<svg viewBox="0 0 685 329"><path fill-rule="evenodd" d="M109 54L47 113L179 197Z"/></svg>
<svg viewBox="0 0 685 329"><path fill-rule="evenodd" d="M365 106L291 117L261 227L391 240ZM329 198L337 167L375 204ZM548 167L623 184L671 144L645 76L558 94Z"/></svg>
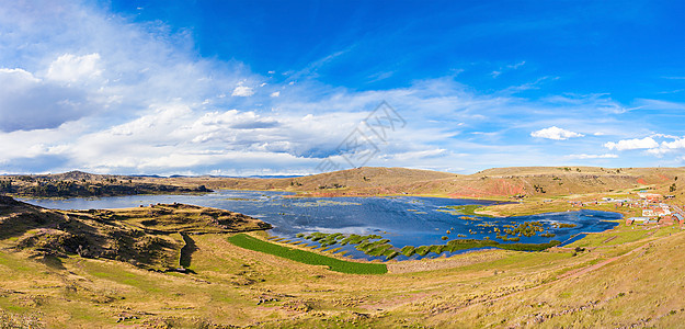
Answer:
<svg viewBox="0 0 685 329"><path fill-rule="evenodd" d="M65 54L50 64L46 78L66 82L92 79L102 73L99 64L100 54L84 56Z"/></svg>

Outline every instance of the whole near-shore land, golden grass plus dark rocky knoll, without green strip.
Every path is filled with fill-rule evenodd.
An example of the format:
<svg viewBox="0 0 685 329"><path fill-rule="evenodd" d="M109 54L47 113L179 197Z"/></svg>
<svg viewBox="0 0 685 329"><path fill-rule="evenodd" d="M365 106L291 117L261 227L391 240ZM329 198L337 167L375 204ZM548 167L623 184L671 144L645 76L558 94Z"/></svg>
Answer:
<svg viewBox="0 0 685 329"><path fill-rule="evenodd" d="M0 321L10 327L674 328L685 321L678 252L685 231L676 226L621 224L543 252L487 250L389 262L388 274L345 274L230 243L237 230L258 229L250 235L264 238L263 226L218 209L55 212L3 197L0 220ZM153 246L167 248L137 248L155 238ZM83 239L98 248L75 252ZM115 241L118 258L107 256ZM183 257L180 249L192 252ZM160 266L183 259L185 273Z"/></svg>

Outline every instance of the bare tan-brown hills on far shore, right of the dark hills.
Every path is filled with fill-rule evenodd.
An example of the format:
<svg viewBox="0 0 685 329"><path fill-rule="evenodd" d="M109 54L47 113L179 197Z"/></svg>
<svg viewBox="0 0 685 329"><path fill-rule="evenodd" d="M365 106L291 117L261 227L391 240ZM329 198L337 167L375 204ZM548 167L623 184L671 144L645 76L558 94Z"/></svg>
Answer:
<svg viewBox="0 0 685 329"><path fill-rule="evenodd" d="M210 189L281 190L316 196L426 194L453 197L550 197L589 193L628 193L652 189L683 195L677 177L685 168L520 167L488 169L473 174L402 168L356 168L301 178L175 178L172 184ZM675 183L676 190L670 191Z"/></svg>

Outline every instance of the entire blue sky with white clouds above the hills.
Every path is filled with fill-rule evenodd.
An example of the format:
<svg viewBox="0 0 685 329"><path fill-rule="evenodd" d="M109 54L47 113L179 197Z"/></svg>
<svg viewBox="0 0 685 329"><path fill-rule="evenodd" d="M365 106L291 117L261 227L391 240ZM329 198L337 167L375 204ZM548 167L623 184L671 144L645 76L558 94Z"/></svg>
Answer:
<svg viewBox="0 0 685 329"><path fill-rule="evenodd" d="M685 166L683 1L0 0L0 173Z"/></svg>

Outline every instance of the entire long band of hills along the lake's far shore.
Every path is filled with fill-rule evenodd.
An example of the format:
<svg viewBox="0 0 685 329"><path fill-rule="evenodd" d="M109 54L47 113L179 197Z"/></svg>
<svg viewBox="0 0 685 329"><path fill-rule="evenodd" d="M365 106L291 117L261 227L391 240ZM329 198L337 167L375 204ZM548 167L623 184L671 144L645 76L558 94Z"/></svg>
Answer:
<svg viewBox="0 0 685 329"><path fill-rule="evenodd" d="M18 196L107 196L202 193L209 189L277 190L311 196L415 194L498 200L628 194L648 189L685 202L685 168L516 167L473 174L362 167L299 178L130 177L68 172L5 175L0 193Z"/></svg>

